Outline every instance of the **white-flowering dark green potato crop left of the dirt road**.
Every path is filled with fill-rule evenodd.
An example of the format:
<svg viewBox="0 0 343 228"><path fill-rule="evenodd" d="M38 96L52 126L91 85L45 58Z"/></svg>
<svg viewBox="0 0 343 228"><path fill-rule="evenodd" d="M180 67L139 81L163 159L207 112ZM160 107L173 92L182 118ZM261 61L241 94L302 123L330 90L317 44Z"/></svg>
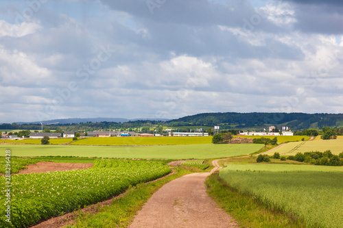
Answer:
<svg viewBox="0 0 343 228"><path fill-rule="evenodd" d="M84 170L12 175L10 227L27 227L78 207L104 201L129 186L163 177L167 173L170 173L170 168L161 162L100 160L95 162L93 168ZM3 177L0 190L5 191ZM6 205L3 196L0 202L0 210L4 212ZM2 216L0 227L8 225Z"/></svg>

